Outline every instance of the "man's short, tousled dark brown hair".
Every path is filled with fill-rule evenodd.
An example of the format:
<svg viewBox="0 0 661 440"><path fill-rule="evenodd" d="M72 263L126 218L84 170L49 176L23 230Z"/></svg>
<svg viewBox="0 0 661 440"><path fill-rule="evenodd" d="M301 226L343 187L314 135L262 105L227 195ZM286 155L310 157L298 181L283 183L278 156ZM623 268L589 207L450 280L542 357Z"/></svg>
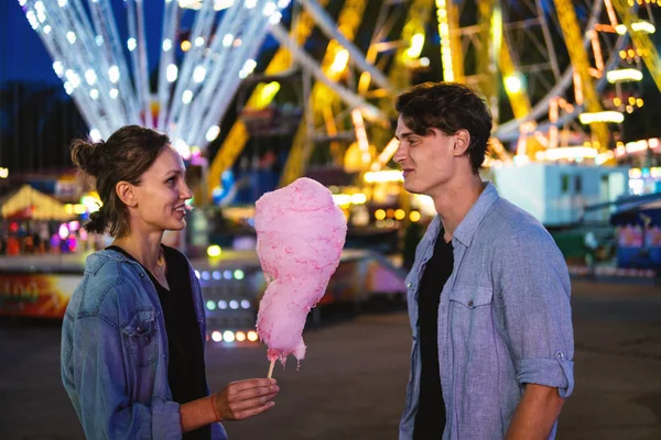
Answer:
<svg viewBox="0 0 661 440"><path fill-rule="evenodd" d="M456 82L424 82L397 97L395 109L415 134L426 136L438 129L451 136L459 130L470 133L467 153L473 173L485 162L491 134L491 112L473 89Z"/></svg>

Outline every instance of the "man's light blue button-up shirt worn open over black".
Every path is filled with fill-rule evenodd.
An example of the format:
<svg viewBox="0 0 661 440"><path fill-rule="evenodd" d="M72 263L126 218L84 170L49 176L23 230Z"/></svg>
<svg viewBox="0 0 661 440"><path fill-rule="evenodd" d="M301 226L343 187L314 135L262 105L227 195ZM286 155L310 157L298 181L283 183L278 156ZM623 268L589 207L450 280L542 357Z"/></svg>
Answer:
<svg viewBox="0 0 661 440"><path fill-rule="evenodd" d="M407 278L413 349L400 440L413 438L421 371L418 292L440 229L436 217ZM491 184L452 243L454 270L438 306L443 439L502 439L524 384L556 387L561 397L574 389L570 276L549 232Z"/></svg>

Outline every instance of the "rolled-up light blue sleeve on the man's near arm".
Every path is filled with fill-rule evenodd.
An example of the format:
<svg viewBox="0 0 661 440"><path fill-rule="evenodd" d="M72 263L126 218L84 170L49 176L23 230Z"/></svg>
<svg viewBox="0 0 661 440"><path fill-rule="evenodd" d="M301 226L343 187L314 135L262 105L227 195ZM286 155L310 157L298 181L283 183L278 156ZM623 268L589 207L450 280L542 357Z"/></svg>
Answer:
<svg viewBox="0 0 661 440"><path fill-rule="evenodd" d="M545 231L525 231L498 256L505 331L520 384L574 389L571 282L564 257Z"/></svg>

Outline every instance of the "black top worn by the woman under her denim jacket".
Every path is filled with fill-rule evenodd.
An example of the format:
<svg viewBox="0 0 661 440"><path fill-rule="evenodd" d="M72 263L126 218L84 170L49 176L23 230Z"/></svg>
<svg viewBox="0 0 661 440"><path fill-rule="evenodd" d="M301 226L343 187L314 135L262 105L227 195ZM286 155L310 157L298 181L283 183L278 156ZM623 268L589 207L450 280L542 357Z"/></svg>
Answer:
<svg viewBox="0 0 661 440"><path fill-rule="evenodd" d="M195 315L188 262L177 250L164 244L162 246L167 268L165 278L170 290L161 286L144 266L143 268L156 288L163 309L169 351L167 382L172 391L172 399L181 405L207 395L204 346ZM119 246L107 249L121 252L137 261ZM184 435L185 440L209 440L210 438L210 426Z"/></svg>

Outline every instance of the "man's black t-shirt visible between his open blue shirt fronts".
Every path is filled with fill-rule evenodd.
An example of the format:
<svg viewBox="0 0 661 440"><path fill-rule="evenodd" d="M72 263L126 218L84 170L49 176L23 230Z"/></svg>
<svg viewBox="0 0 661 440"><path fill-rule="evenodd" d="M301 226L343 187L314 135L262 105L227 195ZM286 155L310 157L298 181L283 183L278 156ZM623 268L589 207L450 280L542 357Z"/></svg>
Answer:
<svg viewBox="0 0 661 440"><path fill-rule="evenodd" d="M438 304L443 286L452 275L454 254L452 241L446 243L443 234L441 229L434 254L422 274L418 294L422 371L413 440L440 440L445 429L445 403L438 369Z"/></svg>

